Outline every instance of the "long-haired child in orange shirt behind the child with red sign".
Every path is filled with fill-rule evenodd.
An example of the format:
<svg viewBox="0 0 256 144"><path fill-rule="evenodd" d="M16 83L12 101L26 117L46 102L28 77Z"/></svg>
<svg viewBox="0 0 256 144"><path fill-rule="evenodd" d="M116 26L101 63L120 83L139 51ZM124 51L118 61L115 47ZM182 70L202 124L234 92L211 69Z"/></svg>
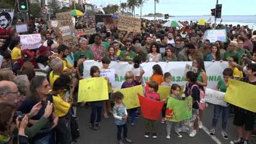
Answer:
<svg viewBox="0 0 256 144"><path fill-rule="evenodd" d="M163 71L159 64L154 65L153 67L153 74L150 78L151 81L155 81L158 83L158 85L161 85L163 82Z"/></svg>

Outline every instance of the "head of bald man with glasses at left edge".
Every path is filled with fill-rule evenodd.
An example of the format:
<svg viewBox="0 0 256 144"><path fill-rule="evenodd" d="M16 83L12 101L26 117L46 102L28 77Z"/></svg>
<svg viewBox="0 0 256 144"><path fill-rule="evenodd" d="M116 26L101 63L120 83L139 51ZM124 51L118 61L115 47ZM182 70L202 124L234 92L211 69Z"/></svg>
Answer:
<svg viewBox="0 0 256 144"><path fill-rule="evenodd" d="M19 96L17 85L14 82L2 80L0 82L0 103L15 104Z"/></svg>

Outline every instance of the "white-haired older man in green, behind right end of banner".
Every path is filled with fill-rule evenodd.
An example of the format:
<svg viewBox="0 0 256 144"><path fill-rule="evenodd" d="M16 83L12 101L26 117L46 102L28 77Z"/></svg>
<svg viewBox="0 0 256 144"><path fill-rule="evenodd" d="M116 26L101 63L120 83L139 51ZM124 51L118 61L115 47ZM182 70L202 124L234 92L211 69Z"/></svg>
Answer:
<svg viewBox="0 0 256 144"><path fill-rule="evenodd" d="M230 41L228 44L228 50L222 56L223 61L228 61L231 56L238 56L238 52L236 51L238 44L236 41Z"/></svg>

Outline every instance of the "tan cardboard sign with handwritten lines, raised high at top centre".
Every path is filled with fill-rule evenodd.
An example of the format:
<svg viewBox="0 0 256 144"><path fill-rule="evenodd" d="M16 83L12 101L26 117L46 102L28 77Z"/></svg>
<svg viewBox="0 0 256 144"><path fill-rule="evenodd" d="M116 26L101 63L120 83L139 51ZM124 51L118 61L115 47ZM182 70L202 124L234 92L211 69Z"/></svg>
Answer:
<svg viewBox="0 0 256 144"><path fill-rule="evenodd" d="M119 16L117 28L121 31L140 32L141 19L135 17Z"/></svg>

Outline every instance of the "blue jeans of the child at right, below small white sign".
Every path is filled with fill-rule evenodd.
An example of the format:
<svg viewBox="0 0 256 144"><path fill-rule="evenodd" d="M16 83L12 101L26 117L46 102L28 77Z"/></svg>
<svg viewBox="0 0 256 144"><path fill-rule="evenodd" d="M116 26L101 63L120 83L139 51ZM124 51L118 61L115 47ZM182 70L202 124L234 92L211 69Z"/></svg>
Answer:
<svg viewBox="0 0 256 144"><path fill-rule="evenodd" d="M228 116L230 115L231 105L229 104L227 107L215 105L214 107L214 114L213 114L213 121L212 121L212 127L216 127L219 116L221 115L222 110L222 123L221 127L222 130L226 130L227 128L227 122L228 122Z"/></svg>

